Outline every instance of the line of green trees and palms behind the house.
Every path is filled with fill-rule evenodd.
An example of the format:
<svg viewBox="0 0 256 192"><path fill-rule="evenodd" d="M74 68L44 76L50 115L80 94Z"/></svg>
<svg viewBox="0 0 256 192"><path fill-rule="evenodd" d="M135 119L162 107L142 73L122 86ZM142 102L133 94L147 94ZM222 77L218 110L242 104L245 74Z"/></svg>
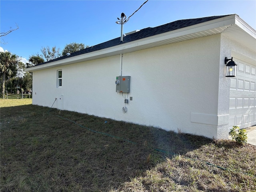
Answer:
<svg viewBox="0 0 256 192"><path fill-rule="evenodd" d="M88 45L83 43L70 43L66 44L62 52L56 46L50 48L49 46L42 47L42 54L34 54L29 57L29 62L24 64L20 62L20 57L12 54L9 51L0 52L0 94L5 98L6 91L8 94L16 93L19 91L30 92L32 91L32 72L25 72L24 69L32 67L43 62L53 60L60 56L65 56L67 53L73 53L84 48Z"/></svg>

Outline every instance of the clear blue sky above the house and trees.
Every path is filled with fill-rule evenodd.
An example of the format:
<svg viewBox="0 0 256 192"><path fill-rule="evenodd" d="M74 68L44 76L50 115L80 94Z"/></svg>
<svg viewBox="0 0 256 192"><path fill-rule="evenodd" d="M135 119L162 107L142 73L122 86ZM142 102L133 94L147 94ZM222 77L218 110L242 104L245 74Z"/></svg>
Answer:
<svg viewBox="0 0 256 192"><path fill-rule="evenodd" d="M19 29L1 38L0 50L25 60L42 47L77 42L93 46L120 36L117 17L128 17L146 0L1 0L0 32ZM256 29L256 0L148 0L124 24L124 33L180 19L238 14Z"/></svg>

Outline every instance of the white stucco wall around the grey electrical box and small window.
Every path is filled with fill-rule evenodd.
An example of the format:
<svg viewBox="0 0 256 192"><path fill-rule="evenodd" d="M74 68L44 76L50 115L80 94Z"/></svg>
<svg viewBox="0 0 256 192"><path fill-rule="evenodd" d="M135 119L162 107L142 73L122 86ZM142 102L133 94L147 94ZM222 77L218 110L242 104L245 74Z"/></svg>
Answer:
<svg viewBox="0 0 256 192"><path fill-rule="evenodd" d="M227 53L220 56L220 40L218 34L124 54L122 75L131 76L132 97L126 113L114 83L119 55L33 72L33 104L50 107L57 98L53 107L61 108L63 96L64 110L226 138L228 104L219 97L228 97L222 61ZM60 69L62 88L57 88Z"/></svg>

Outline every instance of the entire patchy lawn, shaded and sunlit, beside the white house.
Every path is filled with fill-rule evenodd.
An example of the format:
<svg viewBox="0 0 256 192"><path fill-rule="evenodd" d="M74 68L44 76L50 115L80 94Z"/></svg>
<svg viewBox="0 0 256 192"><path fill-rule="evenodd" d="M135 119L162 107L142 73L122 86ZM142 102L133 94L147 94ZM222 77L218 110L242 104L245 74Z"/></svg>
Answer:
<svg viewBox="0 0 256 192"><path fill-rule="evenodd" d="M1 192L255 191L255 146L3 101Z"/></svg>

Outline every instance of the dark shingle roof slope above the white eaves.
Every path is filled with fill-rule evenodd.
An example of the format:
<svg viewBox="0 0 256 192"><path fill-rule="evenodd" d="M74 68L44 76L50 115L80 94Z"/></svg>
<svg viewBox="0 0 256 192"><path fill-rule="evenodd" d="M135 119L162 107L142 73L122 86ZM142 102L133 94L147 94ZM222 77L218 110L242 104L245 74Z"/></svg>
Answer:
<svg viewBox="0 0 256 192"><path fill-rule="evenodd" d="M81 55L81 54L86 54L86 53L89 53L89 52L94 52L94 51L97 51L97 50L102 50L102 49L109 48L109 47L116 46L116 45L120 45L120 44L125 44L127 42L132 42L132 41L139 40L139 39L142 39L142 38L146 38L146 37L154 36L154 35L157 35L157 34L169 32L169 31L172 31L172 30L176 30L176 29L196 25L196 24L199 24L199 23L202 23L202 22L207 22L207 21L218 19L218 18L225 17L225 16L228 16L228 15L177 20L177 21L167 23L167 24L164 24L164 25L160 25L160 26L157 26L157 27L153 27L153 28L151 28L151 27L144 28L144 29L142 29L142 30L140 30L136 33L132 33L132 34L129 34L129 35L125 36L123 38L123 42L121 42L120 37L118 37L118 38L100 43L98 45L94 45L92 47L88 47L88 48L85 48L83 50L71 53L70 56L68 56L68 58L73 57L73 56L78 56L78 55ZM38 64L38 65L42 65L42 64L62 60L62 59L65 59L65 58L67 58L67 56L62 56L62 57L56 58L54 60L50 60L50 61Z"/></svg>

